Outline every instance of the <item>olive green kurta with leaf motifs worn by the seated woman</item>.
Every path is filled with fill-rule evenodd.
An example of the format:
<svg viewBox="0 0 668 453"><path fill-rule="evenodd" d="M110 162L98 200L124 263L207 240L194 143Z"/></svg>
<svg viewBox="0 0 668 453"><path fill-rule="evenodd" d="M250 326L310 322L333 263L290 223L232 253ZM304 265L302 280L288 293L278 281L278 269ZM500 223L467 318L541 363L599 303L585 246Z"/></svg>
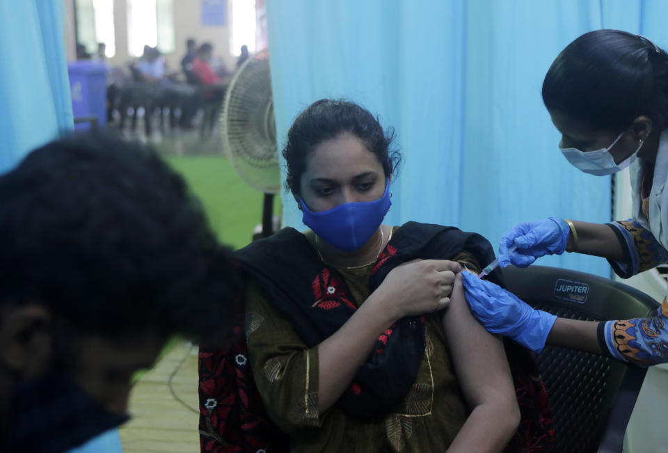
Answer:
<svg viewBox="0 0 668 453"><path fill-rule="evenodd" d="M477 267L466 255L456 259ZM344 278L353 303L361 305L369 296L373 265L334 269ZM404 401L383 418L358 420L336 405L319 414L318 348L306 347L290 321L272 308L253 283L246 303L246 336L255 383L273 422L290 434L292 452L440 452L466 421L468 407L438 313L426 317L424 358Z"/></svg>

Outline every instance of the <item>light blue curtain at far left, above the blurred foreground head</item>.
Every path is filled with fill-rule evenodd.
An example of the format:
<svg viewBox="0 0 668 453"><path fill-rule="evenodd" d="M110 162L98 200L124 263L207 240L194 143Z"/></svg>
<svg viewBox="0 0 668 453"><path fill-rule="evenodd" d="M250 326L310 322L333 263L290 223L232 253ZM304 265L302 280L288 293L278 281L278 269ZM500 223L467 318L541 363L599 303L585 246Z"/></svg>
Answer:
<svg viewBox="0 0 668 453"><path fill-rule="evenodd" d="M0 1L0 173L72 129L61 1Z"/></svg>

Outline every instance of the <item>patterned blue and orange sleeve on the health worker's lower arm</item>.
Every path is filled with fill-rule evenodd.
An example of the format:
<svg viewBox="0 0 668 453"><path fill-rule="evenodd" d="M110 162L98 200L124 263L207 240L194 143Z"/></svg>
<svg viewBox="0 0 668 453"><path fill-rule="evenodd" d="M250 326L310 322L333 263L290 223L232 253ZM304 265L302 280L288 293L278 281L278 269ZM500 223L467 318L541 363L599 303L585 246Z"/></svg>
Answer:
<svg viewBox="0 0 668 453"><path fill-rule="evenodd" d="M642 367L668 363L668 303L649 318L603 321L598 341L612 358Z"/></svg>

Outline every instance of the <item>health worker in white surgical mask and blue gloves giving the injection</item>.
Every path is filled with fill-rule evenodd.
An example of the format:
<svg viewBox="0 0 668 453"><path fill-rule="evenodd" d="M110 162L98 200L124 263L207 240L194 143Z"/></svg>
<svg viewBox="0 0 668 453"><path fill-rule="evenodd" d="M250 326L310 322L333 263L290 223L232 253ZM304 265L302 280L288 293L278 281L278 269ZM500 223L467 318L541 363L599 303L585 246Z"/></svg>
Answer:
<svg viewBox="0 0 668 453"><path fill-rule="evenodd" d="M633 218L598 224L546 218L517 223L500 241L499 263L527 267L564 251L605 257L622 278L668 262L668 54L619 30L585 33L555 59L543 102L562 133L559 150L584 173L630 167ZM515 253L509 248L516 246ZM649 318L564 319L464 272L466 299L488 331L534 351L546 342L636 365L668 362L668 303Z"/></svg>

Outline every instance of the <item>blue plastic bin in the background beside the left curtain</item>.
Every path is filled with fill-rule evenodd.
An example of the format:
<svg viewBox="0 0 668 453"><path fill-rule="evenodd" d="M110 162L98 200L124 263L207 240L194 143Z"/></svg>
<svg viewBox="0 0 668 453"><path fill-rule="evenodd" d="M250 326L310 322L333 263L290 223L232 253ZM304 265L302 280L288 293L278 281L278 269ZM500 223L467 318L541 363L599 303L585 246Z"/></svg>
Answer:
<svg viewBox="0 0 668 453"><path fill-rule="evenodd" d="M99 61L75 61L67 64L70 74L72 113L77 118L95 116L97 125L106 125L106 66ZM80 122L74 129L90 129L90 122Z"/></svg>

